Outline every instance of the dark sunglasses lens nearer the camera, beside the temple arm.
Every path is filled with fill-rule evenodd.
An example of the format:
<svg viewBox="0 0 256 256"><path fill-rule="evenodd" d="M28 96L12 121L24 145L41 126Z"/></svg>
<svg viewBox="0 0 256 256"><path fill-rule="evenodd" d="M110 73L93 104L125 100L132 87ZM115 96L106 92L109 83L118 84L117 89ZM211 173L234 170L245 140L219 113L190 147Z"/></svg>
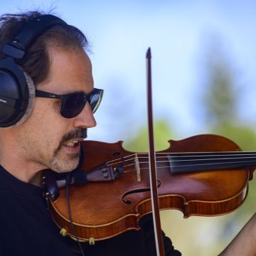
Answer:
<svg viewBox="0 0 256 256"><path fill-rule="evenodd" d="M80 114L82 109L85 107L87 99L82 92L73 93L63 100L61 106L61 114L63 117L72 118Z"/></svg>

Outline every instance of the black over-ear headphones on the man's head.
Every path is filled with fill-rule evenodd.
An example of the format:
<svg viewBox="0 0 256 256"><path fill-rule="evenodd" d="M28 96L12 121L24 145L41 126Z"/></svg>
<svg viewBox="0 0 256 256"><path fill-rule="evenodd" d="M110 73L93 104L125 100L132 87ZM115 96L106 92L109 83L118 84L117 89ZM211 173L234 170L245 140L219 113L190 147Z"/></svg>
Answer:
<svg viewBox="0 0 256 256"><path fill-rule="evenodd" d="M4 45L0 60L0 127L14 127L25 122L33 110L35 87L32 79L15 63L23 58L29 46L54 25L67 25L62 19L47 14L33 18L21 27L14 39Z"/></svg>

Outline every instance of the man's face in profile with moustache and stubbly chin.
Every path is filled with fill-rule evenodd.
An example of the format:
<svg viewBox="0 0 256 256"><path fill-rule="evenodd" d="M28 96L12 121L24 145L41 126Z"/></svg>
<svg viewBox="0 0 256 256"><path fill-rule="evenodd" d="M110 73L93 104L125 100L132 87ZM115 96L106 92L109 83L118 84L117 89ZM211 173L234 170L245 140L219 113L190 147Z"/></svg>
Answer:
<svg viewBox="0 0 256 256"><path fill-rule="evenodd" d="M55 94L91 92L92 68L82 50L50 49L50 78L37 89ZM61 100L36 97L31 116L14 127L19 156L36 169L50 168L57 172L72 171L78 166L80 143L86 129L96 122L86 103L78 116L65 118L60 114Z"/></svg>

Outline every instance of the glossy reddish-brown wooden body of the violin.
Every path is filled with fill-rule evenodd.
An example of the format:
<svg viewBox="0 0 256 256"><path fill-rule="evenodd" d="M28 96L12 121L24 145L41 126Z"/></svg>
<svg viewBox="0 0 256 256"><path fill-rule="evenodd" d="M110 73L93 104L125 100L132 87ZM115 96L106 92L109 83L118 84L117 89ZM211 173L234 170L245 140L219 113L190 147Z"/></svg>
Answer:
<svg viewBox="0 0 256 256"><path fill-rule="evenodd" d="M223 215L241 205L247 196L253 166L172 174L170 165L166 164L172 152L240 151L237 144L211 134L169 143L168 149L157 152L162 156L162 161L156 164L161 210L181 210L188 218L191 215ZM80 170L90 172L102 163L111 162L111 168L122 169L122 175L112 181L70 186L70 209L78 238L104 240L126 230L139 230L139 218L151 213L149 164L143 160L147 154L127 151L122 142L85 141L81 146L83 160ZM133 156L132 161L127 160L130 156ZM59 192L55 201L50 198L53 220L59 228L65 228L70 236L74 236L65 188L60 188Z"/></svg>

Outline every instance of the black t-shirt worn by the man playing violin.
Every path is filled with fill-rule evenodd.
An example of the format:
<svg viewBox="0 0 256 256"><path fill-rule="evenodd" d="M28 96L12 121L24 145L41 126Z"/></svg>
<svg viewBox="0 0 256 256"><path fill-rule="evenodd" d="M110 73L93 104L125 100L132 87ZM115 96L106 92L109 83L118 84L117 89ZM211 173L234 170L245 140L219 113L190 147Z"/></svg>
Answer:
<svg viewBox="0 0 256 256"><path fill-rule="evenodd" d="M0 166L0 255L1 256L78 256L77 242L60 235L50 217L43 190L19 181ZM140 221L141 230L130 230L115 238L82 243L86 256L155 256L151 216ZM179 256L164 235L166 256Z"/></svg>

